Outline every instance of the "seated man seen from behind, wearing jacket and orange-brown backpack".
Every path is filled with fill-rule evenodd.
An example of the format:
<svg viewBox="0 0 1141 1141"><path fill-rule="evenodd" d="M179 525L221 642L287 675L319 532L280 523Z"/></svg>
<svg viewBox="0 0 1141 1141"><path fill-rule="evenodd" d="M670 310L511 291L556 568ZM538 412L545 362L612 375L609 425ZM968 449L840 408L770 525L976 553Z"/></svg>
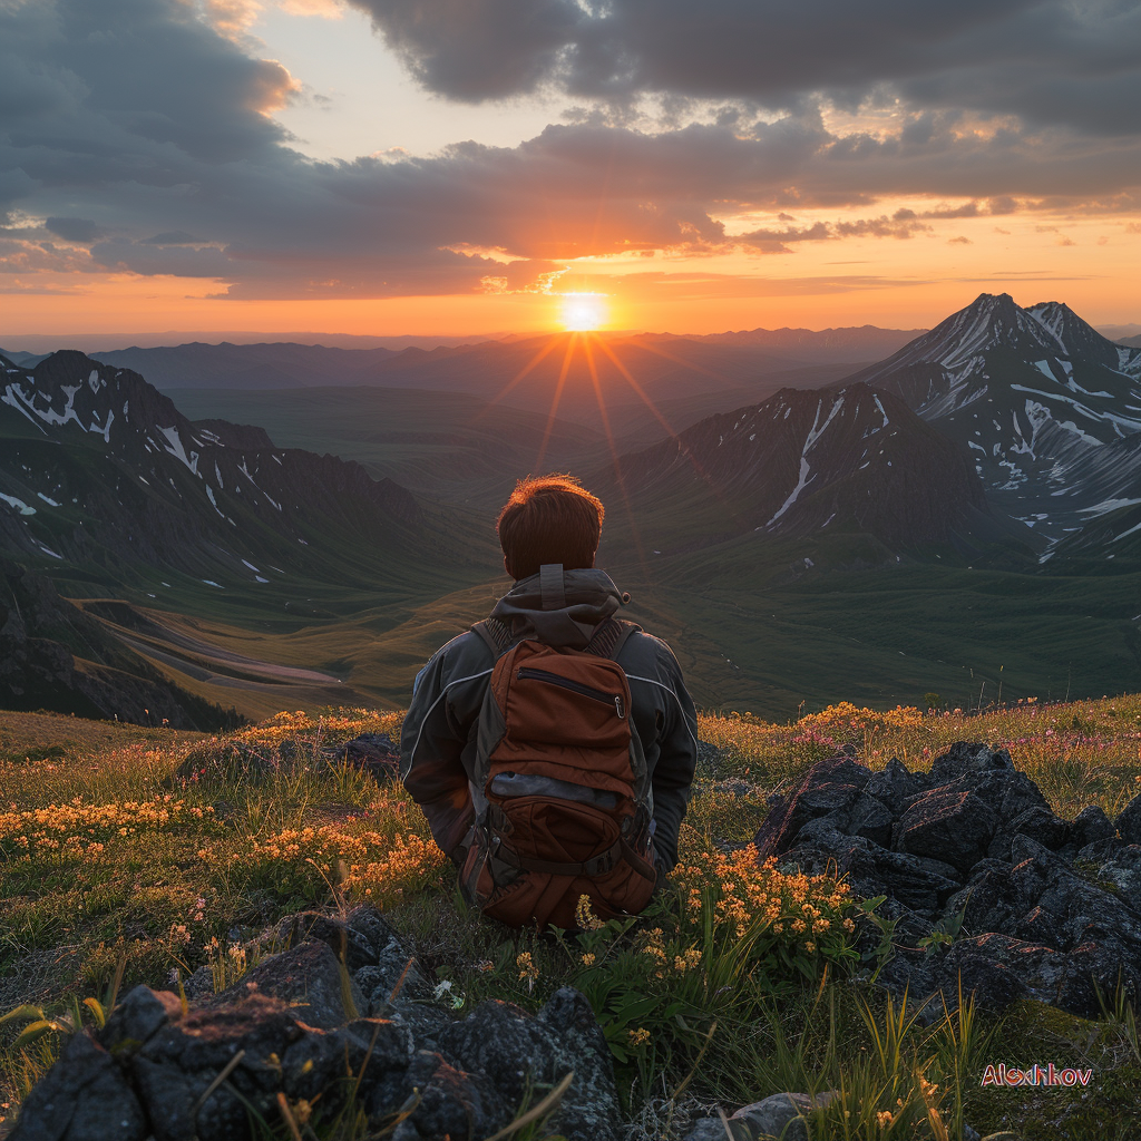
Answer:
<svg viewBox="0 0 1141 1141"><path fill-rule="evenodd" d="M496 523L503 566L515 586L487 622L454 638L420 671L404 721L404 786L423 809L436 843L461 868L466 895L504 922L570 926L568 913L581 893L591 897L599 914L640 911L654 880L678 859L678 830L696 762L694 704L670 647L614 618L629 596L594 568L602 518L601 502L572 477L519 482ZM536 654L547 669L529 667L517 656ZM539 662L534 657L532 665ZM583 685L575 677L596 681ZM557 685L528 698L525 680L519 680L527 678ZM516 696L509 699L510 694ZM551 715L565 726L565 741L532 728L529 739L539 744L519 746L518 738L527 736L519 719L541 715L519 712L528 699L561 710ZM572 704L560 707L560 701ZM581 717L566 712L575 701ZM507 723L512 717L513 730ZM512 733L513 745L505 741ZM591 734L609 735L609 745ZM560 735L558 728L553 738ZM513 760L496 767L496 755L509 746ZM585 772L574 770L575 758L585 758ZM529 799L515 799L521 793L512 786L531 793ZM526 820L520 804L529 809ZM543 816L540 810L549 811ZM607 825L607 812L621 825L621 837ZM639 812L645 817L640 825ZM599 839L592 849L586 836L596 826ZM532 855L524 858L519 850L528 828ZM577 848L576 828L583 833ZM544 840L555 844L559 858L543 858ZM604 853L609 859L596 855L599 845L609 845ZM622 860L629 866L620 869L615 864ZM638 875L649 881L644 892L632 887ZM510 907L496 912L491 906L512 893L517 898Z"/></svg>

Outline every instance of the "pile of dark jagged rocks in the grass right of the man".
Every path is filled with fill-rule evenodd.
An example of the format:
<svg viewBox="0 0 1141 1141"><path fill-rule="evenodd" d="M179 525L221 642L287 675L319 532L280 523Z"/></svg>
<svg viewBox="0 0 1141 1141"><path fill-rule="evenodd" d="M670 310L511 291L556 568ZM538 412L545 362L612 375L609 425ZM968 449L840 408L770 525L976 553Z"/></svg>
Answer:
<svg viewBox="0 0 1141 1141"><path fill-rule="evenodd" d="M958 743L929 772L836 756L774 804L755 842L762 859L887 897L897 954L879 980L932 1011L939 995L954 1008L960 980L993 1008L1034 997L1084 1017L1099 992L1141 995L1141 796L1112 822L1097 807L1063 820L1005 750Z"/></svg>

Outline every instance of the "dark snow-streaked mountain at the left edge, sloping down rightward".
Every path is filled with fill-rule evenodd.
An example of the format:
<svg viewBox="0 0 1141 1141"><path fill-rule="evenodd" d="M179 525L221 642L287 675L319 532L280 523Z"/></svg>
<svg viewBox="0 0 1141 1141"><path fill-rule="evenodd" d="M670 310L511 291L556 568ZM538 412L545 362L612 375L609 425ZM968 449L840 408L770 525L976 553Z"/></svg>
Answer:
<svg viewBox="0 0 1141 1141"><path fill-rule="evenodd" d="M81 353L0 357L0 550L17 557L253 585L339 561L346 543L375 560L419 519L410 492L359 464L192 423L138 373Z"/></svg>

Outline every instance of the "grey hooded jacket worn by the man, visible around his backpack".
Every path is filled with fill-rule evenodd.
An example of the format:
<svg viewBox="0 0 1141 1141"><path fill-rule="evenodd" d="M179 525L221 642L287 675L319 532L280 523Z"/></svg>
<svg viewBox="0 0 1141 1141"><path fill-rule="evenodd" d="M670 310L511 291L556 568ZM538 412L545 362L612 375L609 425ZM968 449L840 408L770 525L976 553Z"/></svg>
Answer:
<svg viewBox="0 0 1141 1141"><path fill-rule="evenodd" d="M567 570L561 606L552 605L551 582L532 575L500 599L492 617L516 638L582 649L594 628L628 596L602 570ZM543 594L547 594L544 608ZM631 722L646 754L654 791L654 847L658 863L678 860L678 830L686 815L697 760L697 719L670 647L644 632L631 634L616 658L630 682ZM416 675L400 736L400 778L423 809L440 849L459 856L483 796L472 784L476 723L495 657L468 631L432 655ZM476 801L474 803L474 798Z"/></svg>

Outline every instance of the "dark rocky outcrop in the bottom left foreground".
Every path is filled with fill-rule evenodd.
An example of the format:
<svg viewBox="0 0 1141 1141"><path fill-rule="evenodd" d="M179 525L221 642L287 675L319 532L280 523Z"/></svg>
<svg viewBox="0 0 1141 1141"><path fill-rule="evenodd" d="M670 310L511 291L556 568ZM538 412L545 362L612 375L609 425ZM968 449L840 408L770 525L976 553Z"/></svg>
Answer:
<svg viewBox="0 0 1141 1141"><path fill-rule="evenodd" d="M609 1050L576 990L535 1015L484 1002L459 1019L374 908L292 916L260 941L283 937L297 941L219 995L184 1006L137 987L71 1038L10 1141L242 1141L251 1119L327 1120L349 1099L395 1141L480 1141L572 1070L550 1128L617 1141Z"/></svg>

